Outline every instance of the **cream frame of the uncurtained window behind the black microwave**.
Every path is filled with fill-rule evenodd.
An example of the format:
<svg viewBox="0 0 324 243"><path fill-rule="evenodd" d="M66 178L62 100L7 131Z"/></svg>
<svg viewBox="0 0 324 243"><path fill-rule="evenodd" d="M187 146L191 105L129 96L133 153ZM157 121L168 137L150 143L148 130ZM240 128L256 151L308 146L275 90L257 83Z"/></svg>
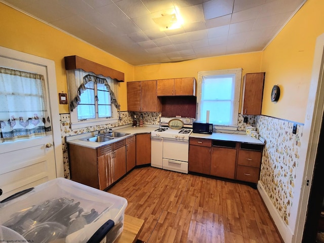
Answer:
<svg viewBox="0 0 324 243"><path fill-rule="evenodd" d="M198 72L197 80L197 120L206 121L204 119L205 114L201 114L200 105L201 105L201 92L203 85L203 78L208 76L218 76L218 75L235 75L235 84L234 84L234 100L233 100L233 113L232 113L232 123L228 125L213 124L215 129L224 129L224 130L237 130L238 124L238 114L239 114L239 99L240 99L240 88L241 88L241 78L242 78L242 68L235 69L224 69L224 70L213 70L213 71L200 71Z"/></svg>

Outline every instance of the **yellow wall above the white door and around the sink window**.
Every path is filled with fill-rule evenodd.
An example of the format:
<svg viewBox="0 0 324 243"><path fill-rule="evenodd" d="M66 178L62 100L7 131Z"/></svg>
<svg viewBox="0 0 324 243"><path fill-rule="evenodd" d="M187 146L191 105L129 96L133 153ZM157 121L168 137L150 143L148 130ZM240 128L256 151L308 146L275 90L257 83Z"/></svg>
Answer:
<svg viewBox="0 0 324 243"><path fill-rule="evenodd" d="M58 92L67 93L65 56L80 56L125 73L134 79L134 67L85 42L59 31L0 3L0 46L55 61ZM121 110L127 110L127 86L119 83ZM69 113L68 105L59 105L60 113Z"/></svg>

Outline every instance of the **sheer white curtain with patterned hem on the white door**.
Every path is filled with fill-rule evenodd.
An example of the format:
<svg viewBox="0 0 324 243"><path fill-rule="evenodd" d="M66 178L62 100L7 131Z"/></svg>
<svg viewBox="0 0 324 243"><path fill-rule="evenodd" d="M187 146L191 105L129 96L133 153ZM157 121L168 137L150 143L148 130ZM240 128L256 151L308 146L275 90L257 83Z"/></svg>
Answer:
<svg viewBox="0 0 324 243"><path fill-rule="evenodd" d="M51 132L43 75L0 67L0 104L0 143Z"/></svg>

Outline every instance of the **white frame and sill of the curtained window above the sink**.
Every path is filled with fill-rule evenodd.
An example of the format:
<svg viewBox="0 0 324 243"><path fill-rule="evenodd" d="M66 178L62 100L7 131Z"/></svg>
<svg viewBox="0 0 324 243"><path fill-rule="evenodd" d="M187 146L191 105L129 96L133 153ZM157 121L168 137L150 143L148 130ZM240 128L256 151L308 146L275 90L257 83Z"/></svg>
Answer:
<svg viewBox="0 0 324 243"><path fill-rule="evenodd" d="M87 74L94 74L92 72L84 72ZM84 76L85 76L84 75ZM103 75L97 75L94 74L97 77L100 78L106 78ZM112 81L109 83L109 86L112 90L112 92L115 94L116 97L118 97L118 89L115 85L115 82ZM95 84L95 96L97 95L97 84ZM108 92L109 93L109 92ZM82 95L82 94L81 94ZM77 106L78 107L78 106ZM97 117L93 119L78 119L77 117L77 107L73 109L73 111L70 111L70 124L71 124L71 129L79 129L79 128L86 128L86 127L93 127L93 126L100 126L100 125L106 125L106 124L113 124L113 123L118 123L118 110L117 108L111 104L111 117ZM98 116L98 102L96 101L95 98L95 110L96 110L96 116Z"/></svg>

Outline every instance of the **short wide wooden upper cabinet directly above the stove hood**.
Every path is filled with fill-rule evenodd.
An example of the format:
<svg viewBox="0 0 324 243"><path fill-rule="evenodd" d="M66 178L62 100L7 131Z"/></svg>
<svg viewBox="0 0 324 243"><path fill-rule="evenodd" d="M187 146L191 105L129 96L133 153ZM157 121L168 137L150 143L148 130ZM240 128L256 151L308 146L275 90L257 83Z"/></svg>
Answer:
<svg viewBox="0 0 324 243"><path fill-rule="evenodd" d="M196 79L194 77L157 80L157 96L195 96Z"/></svg>

